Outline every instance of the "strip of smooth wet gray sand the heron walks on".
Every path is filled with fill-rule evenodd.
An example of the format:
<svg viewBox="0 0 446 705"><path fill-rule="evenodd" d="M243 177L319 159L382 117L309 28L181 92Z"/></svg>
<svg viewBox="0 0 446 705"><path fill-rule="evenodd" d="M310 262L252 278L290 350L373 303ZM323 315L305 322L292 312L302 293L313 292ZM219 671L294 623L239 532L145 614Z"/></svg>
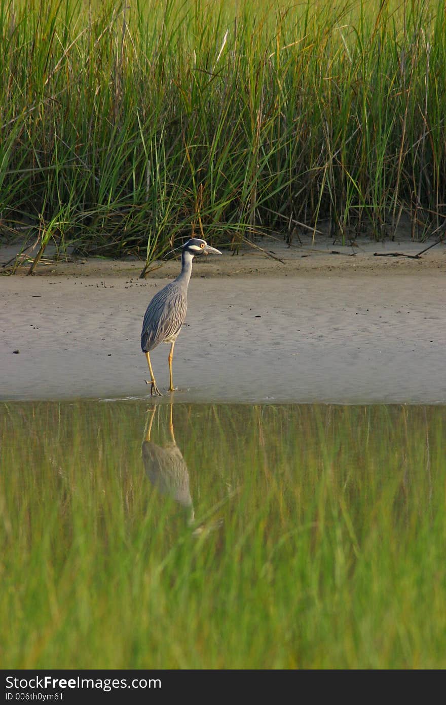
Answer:
<svg viewBox="0 0 446 705"><path fill-rule="evenodd" d="M409 259L374 252L430 243L259 244L283 262L249 249L194 264L175 401L446 403L445 245ZM140 280L137 261L44 261L0 277L0 398L150 399L142 317L179 267ZM168 350L151 353L161 391Z"/></svg>

